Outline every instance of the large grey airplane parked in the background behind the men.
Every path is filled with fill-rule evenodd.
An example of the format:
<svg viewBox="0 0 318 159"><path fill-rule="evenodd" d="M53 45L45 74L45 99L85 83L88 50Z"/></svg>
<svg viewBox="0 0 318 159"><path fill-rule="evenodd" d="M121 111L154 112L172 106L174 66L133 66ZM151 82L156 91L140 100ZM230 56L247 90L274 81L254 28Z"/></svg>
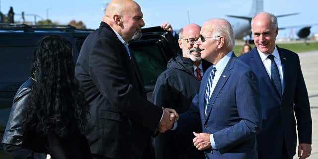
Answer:
<svg viewBox="0 0 318 159"><path fill-rule="evenodd" d="M263 11L263 0L253 0L251 10L248 15L239 16L239 15L227 15L230 18L227 20L231 23L234 31L234 36L236 39L242 39L243 37L249 35L250 38L252 37L251 32L251 20L255 13L262 12ZM277 18L283 17L283 16L290 16L290 15L296 15L299 13L290 13L290 14L284 14L284 15L276 15ZM313 24L317 25L317 24ZM307 38L308 35L310 35L310 28L311 25L307 26L290 26L290 27L279 27L279 29L286 29L286 28L293 28L298 27L300 28L296 34L300 38Z"/></svg>

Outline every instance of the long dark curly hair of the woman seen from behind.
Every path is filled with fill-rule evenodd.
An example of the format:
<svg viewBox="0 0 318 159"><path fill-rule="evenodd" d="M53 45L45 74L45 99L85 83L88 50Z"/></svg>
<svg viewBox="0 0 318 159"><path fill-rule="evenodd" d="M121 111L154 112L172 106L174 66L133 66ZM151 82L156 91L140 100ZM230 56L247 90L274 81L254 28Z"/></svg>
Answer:
<svg viewBox="0 0 318 159"><path fill-rule="evenodd" d="M57 35L36 45L31 64L34 80L28 97L26 128L37 135L84 134L88 105L75 79L72 43Z"/></svg>

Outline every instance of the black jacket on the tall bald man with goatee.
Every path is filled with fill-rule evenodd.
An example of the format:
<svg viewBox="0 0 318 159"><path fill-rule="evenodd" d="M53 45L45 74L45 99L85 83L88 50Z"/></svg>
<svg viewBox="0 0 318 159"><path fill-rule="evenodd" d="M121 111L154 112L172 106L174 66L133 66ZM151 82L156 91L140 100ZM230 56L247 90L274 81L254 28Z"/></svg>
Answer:
<svg viewBox="0 0 318 159"><path fill-rule="evenodd" d="M87 140L93 154L141 159L162 109L147 100L137 61L105 22L84 41L75 68L90 105ZM135 63L135 65L134 65Z"/></svg>

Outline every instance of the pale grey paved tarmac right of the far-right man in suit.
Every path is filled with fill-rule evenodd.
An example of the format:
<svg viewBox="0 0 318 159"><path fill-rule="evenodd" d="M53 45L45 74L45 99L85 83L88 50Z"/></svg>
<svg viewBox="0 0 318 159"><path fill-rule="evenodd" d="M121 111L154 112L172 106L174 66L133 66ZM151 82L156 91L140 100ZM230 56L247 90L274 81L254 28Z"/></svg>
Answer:
<svg viewBox="0 0 318 159"><path fill-rule="evenodd" d="M313 120L312 154L308 159L318 159L318 50L298 55L308 90ZM299 159L297 156L296 150L294 159Z"/></svg>

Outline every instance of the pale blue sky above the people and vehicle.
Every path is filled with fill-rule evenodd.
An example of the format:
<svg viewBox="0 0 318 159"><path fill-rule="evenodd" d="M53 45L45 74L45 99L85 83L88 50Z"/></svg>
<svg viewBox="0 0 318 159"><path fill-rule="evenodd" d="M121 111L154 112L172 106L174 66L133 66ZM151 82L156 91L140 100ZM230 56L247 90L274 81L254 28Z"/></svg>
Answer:
<svg viewBox="0 0 318 159"><path fill-rule="evenodd" d="M226 15L247 15L252 0L135 0L142 8L145 27L171 23L179 30L188 23L202 25L210 18L225 18ZM10 6L14 20L26 21L51 19L68 24L71 20L82 21L87 28L99 27L104 15L105 3L110 0L0 0L0 11L7 14ZM274 15L299 13L278 18L279 27L318 24L318 0L263 0L264 11ZM299 28L280 30L278 38L297 38ZM311 35L318 33L318 25L311 28Z"/></svg>

